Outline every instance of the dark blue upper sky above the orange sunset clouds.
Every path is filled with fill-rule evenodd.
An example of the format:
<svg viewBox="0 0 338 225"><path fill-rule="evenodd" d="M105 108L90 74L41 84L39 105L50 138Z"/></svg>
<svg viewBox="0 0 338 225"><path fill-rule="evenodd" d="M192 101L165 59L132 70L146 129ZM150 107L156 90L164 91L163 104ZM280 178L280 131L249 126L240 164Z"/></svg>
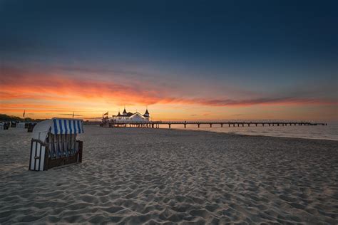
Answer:
<svg viewBox="0 0 338 225"><path fill-rule="evenodd" d="M337 100L337 15L338 1L0 0L0 57L70 76L192 80L180 95L203 83L205 95Z"/></svg>

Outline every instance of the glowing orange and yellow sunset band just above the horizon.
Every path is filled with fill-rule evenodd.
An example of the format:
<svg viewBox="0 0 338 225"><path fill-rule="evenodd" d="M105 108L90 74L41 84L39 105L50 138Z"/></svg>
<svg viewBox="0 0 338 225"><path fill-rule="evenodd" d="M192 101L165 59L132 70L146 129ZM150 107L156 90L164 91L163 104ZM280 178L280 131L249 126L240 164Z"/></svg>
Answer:
<svg viewBox="0 0 338 225"><path fill-rule="evenodd" d="M74 110L84 118L100 118L102 112L115 115L126 105L130 110L152 111L157 120L233 120L233 119L320 119L329 115L324 111L337 108L337 101L325 98L299 98L264 96L231 99L226 95L201 98L195 93L185 94L170 88L156 87L142 80L114 82L96 78L83 79L67 74L30 72L29 70L3 70L1 77L1 112L32 118L60 117ZM39 80L39 82L36 82ZM203 89L210 89L205 83ZM153 88L152 88L153 86ZM84 88L86 87L86 88ZM143 88L140 88L143 87ZM198 87L190 87L198 89ZM307 117L304 110L313 111ZM238 113L240 112L240 113ZM297 112L299 114L297 114ZM286 113L286 114L285 114Z"/></svg>

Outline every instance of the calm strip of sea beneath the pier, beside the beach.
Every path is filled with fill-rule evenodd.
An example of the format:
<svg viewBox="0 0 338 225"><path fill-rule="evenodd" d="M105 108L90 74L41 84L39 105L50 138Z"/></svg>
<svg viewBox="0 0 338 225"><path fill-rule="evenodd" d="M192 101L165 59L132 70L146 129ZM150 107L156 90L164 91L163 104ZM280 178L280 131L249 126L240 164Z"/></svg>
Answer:
<svg viewBox="0 0 338 225"><path fill-rule="evenodd" d="M168 125L160 125L160 128L168 128ZM299 126L299 125L287 125L287 126L267 126L262 125L245 125L242 127L229 127L228 125L171 125L172 129L183 129L183 130L205 130L210 132L225 132L240 135L262 135L271 137L299 137L306 139L322 139L322 140L338 140L338 122L327 122L327 125L315 125L315 126Z"/></svg>

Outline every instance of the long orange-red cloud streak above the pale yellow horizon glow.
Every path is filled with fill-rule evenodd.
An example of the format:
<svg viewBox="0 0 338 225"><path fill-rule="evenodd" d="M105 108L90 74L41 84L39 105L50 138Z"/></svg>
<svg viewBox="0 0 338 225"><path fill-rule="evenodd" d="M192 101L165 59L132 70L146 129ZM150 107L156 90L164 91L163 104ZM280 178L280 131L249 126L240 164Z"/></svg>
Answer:
<svg viewBox="0 0 338 225"><path fill-rule="evenodd" d="M4 70L0 78L0 100L45 100L59 102L86 102L107 100L118 105L190 104L210 106L337 104L337 100L299 98L296 96L229 99L193 98L170 95L170 90L153 88L145 83L116 83L113 80L71 78L57 74L31 74L20 70ZM6 106L9 107L10 104ZM3 105L4 107L4 105Z"/></svg>

